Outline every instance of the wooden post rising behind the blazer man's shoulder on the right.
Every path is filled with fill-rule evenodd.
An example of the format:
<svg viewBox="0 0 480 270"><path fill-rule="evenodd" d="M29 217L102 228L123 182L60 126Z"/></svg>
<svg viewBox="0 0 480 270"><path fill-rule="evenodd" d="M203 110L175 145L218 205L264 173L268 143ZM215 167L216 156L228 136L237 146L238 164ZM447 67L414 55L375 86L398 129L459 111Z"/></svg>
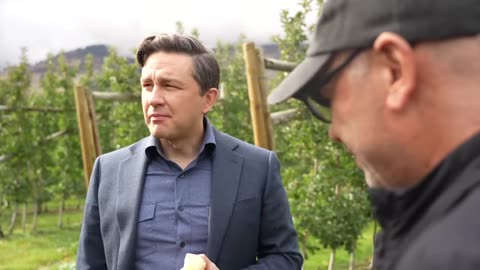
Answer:
<svg viewBox="0 0 480 270"><path fill-rule="evenodd" d="M264 83L265 66L263 55L252 42L243 44L245 71L252 116L255 145L273 149L272 121L267 106L267 93Z"/></svg>

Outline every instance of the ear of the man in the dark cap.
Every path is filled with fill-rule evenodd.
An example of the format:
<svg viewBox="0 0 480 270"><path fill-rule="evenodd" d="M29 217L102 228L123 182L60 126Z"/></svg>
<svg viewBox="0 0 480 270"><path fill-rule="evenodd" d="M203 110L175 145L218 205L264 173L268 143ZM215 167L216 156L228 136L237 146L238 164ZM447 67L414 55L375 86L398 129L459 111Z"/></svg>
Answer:
<svg viewBox="0 0 480 270"><path fill-rule="evenodd" d="M373 44L375 54L381 56L388 73L387 108L405 108L415 91L416 66L412 46L401 36L385 32Z"/></svg>

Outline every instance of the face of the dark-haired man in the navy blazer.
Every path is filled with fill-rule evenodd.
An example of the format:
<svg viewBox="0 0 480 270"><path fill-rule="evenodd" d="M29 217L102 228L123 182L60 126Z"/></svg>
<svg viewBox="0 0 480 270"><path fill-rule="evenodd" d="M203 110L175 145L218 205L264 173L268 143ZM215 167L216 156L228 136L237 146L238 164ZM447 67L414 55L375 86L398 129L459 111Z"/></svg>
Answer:
<svg viewBox="0 0 480 270"><path fill-rule="evenodd" d="M211 105L193 78L193 61L186 54L151 54L141 76L142 105L150 133L179 140L202 131L203 115Z"/></svg>

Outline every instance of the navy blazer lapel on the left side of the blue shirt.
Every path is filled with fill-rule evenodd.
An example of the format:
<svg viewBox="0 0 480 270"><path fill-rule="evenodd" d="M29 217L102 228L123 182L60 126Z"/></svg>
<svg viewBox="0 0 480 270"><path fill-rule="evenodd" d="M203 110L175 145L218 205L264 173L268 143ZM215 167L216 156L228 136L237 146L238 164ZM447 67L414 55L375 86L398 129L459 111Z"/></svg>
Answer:
<svg viewBox="0 0 480 270"><path fill-rule="evenodd" d="M142 148L143 149L143 148ZM145 177L147 157L139 151L124 159L118 169L117 220L120 229L119 269L130 268L136 248L137 217Z"/></svg>

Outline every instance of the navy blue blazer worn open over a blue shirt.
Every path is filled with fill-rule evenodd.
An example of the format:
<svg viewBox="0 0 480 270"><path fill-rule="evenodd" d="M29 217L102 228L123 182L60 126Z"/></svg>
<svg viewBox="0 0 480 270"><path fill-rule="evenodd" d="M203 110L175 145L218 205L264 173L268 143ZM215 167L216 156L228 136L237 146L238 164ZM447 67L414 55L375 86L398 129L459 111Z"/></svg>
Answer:
<svg viewBox="0 0 480 270"><path fill-rule="evenodd" d="M214 136L207 256L221 270L301 269L278 158L215 129ZM77 269L133 269L146 141L95 161Z"/></svg>

